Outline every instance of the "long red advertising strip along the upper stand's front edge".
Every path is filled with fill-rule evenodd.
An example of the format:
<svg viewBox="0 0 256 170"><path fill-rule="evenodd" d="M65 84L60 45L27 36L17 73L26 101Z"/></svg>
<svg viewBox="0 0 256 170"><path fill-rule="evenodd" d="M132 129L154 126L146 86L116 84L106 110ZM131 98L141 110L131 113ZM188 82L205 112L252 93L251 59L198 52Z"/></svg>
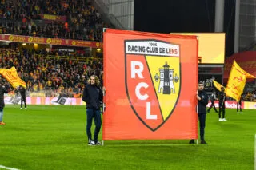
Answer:
<svg viewBox="0 0 256 170"><path fill-rule="evenodd" d="M0 34L0 41L6 42L25 42L25 43L37 43L37 44L50 44L50 45L68 45L68 46L80 46L91 48L102 48L102 42L89 42L82 40L70 40L60 38L39 38L23 35L11 35Z"/></svg>

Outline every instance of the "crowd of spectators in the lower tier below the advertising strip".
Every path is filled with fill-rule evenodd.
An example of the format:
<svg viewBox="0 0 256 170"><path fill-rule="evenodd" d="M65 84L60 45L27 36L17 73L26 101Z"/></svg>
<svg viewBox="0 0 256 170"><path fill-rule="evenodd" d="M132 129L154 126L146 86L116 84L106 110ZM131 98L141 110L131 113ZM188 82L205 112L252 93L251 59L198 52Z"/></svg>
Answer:
<svg viewBox="0 0 256 170"><path fill-rule="evenodd" d="M86 80L90 75L97 75L102 84L102 61L94 58L88 62L77 60L48 58L48 52L38 52L26 49L0 49L0 68L10 69L14 66L18 76L26 82L27 91L42 93L45 97L80 97Z"/></svg>

